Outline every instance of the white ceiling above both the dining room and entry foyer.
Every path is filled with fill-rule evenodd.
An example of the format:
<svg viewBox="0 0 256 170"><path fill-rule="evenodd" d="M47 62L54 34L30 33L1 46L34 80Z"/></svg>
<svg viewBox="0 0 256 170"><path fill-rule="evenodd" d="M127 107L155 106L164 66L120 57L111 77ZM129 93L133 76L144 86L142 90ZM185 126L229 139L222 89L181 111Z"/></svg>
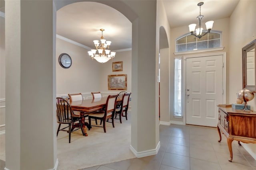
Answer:
<svg viewBox="0 0 256 170"><path fill-rule="evenodd" d="M198 23L198 0L163 0L171 28ZM204 0L201 14L203 22L229 17L239 0ZM56 32L94 49L93 40L112 41L110 50L120 51L132 47L132 23L117 10L97 2L77 2L57 11ZM188 30L189 31L189 30Z"/></svg>

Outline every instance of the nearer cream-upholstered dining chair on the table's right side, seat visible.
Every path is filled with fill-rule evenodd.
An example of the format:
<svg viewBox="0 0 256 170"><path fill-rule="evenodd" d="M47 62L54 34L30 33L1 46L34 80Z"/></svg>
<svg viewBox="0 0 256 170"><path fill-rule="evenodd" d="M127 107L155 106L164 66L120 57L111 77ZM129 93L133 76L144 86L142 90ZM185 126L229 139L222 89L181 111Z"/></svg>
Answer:
<svg viewBox="0 0 256 170"><path fill-rule="evenodd" d="M92 126L97 126L97 125L91 125L91 119L98 119L101 122L103 122L103 129L104 132L106 133L106 120L109 118L112 119L112 126L115 127L114 125L114 114L116 110L116 98L118 95L109 95L107 100L106 100L106 107L104 110L100 111L94 111L89 114L89 127ZM102 127L102 126L97 126L97 127ZM90 129L89 129L90 130Z"/></svg>

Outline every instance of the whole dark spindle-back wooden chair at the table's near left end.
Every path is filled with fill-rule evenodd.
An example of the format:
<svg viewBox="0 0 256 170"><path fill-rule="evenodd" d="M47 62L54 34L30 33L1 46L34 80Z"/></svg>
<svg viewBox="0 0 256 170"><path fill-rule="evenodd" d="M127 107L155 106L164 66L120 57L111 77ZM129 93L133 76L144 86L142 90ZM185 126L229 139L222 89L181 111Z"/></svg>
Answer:
<svg viewBox="0 0 256 170"><path fill-rule="evenodd" d="M82 126L82 118L79 115L74 114L69 102L64 98L56 98L56 113L57 113L57 123L59 123L58 130L57 130L57 137L59 131L66 131L69 134L69 143L71 138L71 133L81 129L82 134L84 134L83 126ZM76 124L76 122L78 122ZM60 129L62 124L68 125ZM72 129L71 129L72 126ZM66 129L68 128L68 130Z"/></svg>

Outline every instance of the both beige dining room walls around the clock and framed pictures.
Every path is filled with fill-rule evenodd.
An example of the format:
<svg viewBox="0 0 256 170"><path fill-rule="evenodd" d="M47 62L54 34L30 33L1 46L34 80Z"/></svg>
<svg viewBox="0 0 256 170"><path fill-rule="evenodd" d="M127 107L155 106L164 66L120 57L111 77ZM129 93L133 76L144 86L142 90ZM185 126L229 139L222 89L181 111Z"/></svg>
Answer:
<svg viewBox="0 0 256 170"><path fill-rule="evenodd" d="M108 90L108 75L127 74L127 90L131 92L131 63L132 51L117 52L116 57L107 63L98 63L90 59L83 47L56 39L56 89L57 95L68 93L113 92L121 90ZM62 68L58 63L61 53L68 53L72 58L72 66ZM123 71L112 72L112 62L123 61Z"/></svg>

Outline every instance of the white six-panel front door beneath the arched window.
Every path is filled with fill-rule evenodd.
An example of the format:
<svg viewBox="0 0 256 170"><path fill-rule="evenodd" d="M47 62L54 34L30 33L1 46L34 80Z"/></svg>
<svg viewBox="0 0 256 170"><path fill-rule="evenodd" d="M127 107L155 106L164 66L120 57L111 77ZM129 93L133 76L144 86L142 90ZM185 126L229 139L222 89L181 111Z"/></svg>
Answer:
<svg viewBox="0 0 256 170"><path fill-rule="evenodd" d="M223 103L223 55L186 58L186 124L216 127Z"/></svg>

